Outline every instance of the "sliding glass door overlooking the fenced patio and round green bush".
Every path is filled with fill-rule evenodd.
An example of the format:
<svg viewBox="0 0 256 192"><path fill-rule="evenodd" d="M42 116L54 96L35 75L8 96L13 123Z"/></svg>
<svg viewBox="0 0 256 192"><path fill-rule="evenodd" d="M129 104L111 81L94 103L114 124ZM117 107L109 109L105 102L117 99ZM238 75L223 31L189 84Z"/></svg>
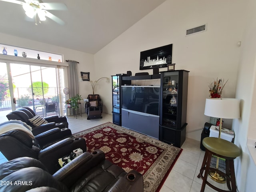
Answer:
<svg viewBox="0 0 256 192"><path fill-rule="evenodd" d="M63 68L15 63L0 66L0 112L6 110L4 116L25 106L43 117L63 114L60 86L64 87L64 80L57 78L64 76Z"/></svg>

